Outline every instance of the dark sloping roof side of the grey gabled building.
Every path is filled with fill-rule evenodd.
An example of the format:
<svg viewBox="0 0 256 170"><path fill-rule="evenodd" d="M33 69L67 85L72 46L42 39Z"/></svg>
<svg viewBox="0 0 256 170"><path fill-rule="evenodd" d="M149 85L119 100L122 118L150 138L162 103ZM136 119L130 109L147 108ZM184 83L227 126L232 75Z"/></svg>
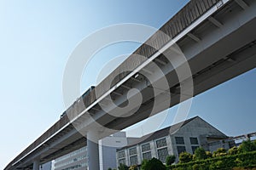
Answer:
<svg viewBox="0 0 256 170"><path fill-rule="evenodd" d="M192 117L188 120L185 120L183 122L178 122L177 124L174 124L172 126L169 126L169 127L165 127L165 128L162 128L154 133L148 133L146 135L144 135L143 137L141 138L138 138L136 141L134 141L133 143L131 144L128 144L126 145L125 147L123 148L120 148L119 150L124 150L125 148L131 148L132 146L135 146L137 144L143 144L143 143L146 143L148 141L151 141L153 139L160 139L160 138L163 138L169 134L172 134L172 133L176 133L177 130L180 128L180 127L183 127L185 126L186 124L188 124L189 122L195 120L195 118L200 118L200 116L195 116L195 117Z"/></svg>

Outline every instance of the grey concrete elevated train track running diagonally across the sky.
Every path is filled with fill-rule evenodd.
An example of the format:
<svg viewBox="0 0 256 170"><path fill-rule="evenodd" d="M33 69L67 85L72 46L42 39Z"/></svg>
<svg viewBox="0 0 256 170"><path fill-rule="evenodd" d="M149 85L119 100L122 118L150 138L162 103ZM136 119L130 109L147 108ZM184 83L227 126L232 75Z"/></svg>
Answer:
<svg viewBox="0 0 256 170"><path fill-rule="evenodd" d="M254 0L190 1L160 28L170 38L156 32L5 169L38 170L39 164L84 145L93 158L90 170L99 169L98 146L87 138L102 139L113 133L106 127L124 129L255 68L255 8ZM188 63L181 62L181 55ZM182 73L186 64L192 77L181 79L177 71ZM133 107L119 112L132 102Z"/></svg>

